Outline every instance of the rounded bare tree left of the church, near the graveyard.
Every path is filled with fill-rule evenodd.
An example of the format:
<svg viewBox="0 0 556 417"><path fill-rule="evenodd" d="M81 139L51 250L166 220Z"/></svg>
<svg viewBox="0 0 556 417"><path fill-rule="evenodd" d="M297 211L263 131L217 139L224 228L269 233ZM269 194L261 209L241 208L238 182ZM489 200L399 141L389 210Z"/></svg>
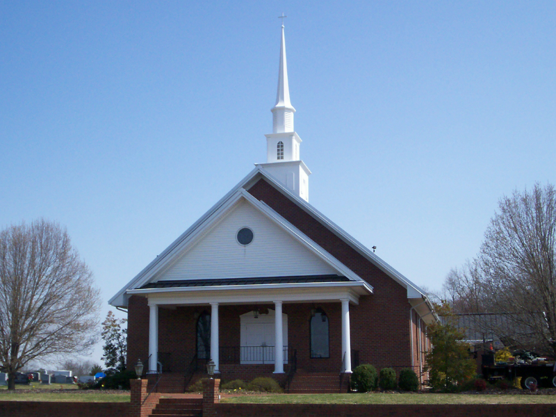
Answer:
<svg viewBox="0 0 556 417"><path fill-rule="evenodd" d="M65 228L41 219L0 231L0 363L87 351L97 341L99 290Z"/></svg>

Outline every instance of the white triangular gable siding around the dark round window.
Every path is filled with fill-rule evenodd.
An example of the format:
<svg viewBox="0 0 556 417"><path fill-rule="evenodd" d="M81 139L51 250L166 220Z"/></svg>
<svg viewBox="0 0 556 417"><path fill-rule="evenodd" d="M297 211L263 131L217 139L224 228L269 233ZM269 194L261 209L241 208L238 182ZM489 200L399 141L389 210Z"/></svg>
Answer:
<svg viewBox="0 0 556 417"><path fill-rule="evenodd" d="M254 233L250 245L240 245L236 240L237 231L242 227L249 227ZM337 273L257 208L242 200L155 280Z"/></svg>

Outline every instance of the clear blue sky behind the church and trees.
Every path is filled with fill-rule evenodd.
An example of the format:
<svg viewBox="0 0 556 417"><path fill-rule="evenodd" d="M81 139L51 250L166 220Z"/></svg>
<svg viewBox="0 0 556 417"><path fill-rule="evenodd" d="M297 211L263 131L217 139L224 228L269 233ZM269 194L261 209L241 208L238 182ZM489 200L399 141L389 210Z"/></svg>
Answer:
<svg viewBox="0 0 556 417"><path fill-rule="evenodd" d="M104 318L265 162L282 12L310 202L416 284L555 183L553 0L0 1L0 227L64 224Z"/></svg>

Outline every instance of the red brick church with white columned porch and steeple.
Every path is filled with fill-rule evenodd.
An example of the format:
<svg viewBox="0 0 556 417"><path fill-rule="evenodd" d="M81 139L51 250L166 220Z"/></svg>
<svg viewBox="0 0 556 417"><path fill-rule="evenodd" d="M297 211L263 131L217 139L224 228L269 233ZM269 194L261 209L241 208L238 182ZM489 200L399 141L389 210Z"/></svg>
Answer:
<svg viewBox="0 0 556 417"><path fill-rule="evenodd" d="M224 380L286 392L347 390L359 363L422 375L436 320L425 293L309 204L281 27L266 163L109 304L128 311L127 363L183 392L212 359Z"/></svg>

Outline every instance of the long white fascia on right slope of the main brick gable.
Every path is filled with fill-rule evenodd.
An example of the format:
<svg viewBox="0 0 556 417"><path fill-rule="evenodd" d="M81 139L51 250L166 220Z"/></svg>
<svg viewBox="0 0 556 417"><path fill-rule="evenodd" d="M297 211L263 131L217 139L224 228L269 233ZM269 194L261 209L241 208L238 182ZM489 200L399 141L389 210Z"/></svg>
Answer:
<svg viewBox="0 0 556 417"><path fill-rule="evenodd" d="M275 188L277 188L286 197L291 199L295 204L297 204L297 206L300 206L302 209L308 211L309 214L313 216L313 218L316 218L323 226L325 226L327 229L329 229L334 234L339 236L342 240L344 240L345 243L354 247L354 249L357 250L357 252L359 252L366 259L368 259L368 261L376 265L377 268L385 272L386 275L389 275L389 277L394 279L394 281L398 282L398 284L407 288L408 298L423 297L425 295L425 291L423 291L421 288L416 286L409 279L404 277L400 272L392 268L391 265L389 265L388 263L380 259L376 254L368 250L365 246L359 243L355 238L350 236L350 234L347 234L347 232L345 232L341 227L339 227L337 224L332 222L332 220L329 220L329 218L327 218L325 215L320 213L320 211L318 211L316 208L311 206L311 204L306 202L304 199L297 197L297 195L291 193L291 191L288 190L288 188L282 185L277 179L272 177L271 174L266 172L264 167L261 165L262 164L257 165L257 168L259 168L261 174L263 174L264 177L268 179L273 186L275 186ZM254 183L254 181L251 182ZM249 183L248 185L252 185L252 183ZM248 189L249 188L247 188L247 190Z"/></svg>

